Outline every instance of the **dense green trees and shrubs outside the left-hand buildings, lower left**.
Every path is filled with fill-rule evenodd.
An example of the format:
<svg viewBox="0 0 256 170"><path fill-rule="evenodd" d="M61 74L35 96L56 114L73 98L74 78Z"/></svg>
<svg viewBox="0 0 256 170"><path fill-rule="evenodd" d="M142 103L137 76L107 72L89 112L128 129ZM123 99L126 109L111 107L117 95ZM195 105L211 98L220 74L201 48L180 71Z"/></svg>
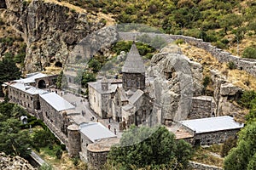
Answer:
<svg viewBox="0 0 256 170"><path fill-rule="evenodd" d="M27 116L27 124L20 121L20 116ZM49 147L53 150L54 144L59 145L55 155L61 158L61 149L66 150L66 146L61 145L42 121L30 116L19 105L0 103L0 151L26 158L31 152L30 149L39 151L40 148Z"/></svg>

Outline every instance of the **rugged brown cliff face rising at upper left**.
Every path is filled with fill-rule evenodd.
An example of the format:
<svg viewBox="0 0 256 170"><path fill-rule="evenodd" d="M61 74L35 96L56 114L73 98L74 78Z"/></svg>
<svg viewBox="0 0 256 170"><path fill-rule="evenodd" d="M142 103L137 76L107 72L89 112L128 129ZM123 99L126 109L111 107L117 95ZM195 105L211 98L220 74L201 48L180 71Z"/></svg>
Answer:
<svg viewBox="0 0 256 170"><path fill-rule="evenodd" d="M26 42L26 72L43 71L51 63L61 66L79 40L106 24L98 20L100 17L68 3L46 0L5 0L5 3L10 26Z"/></svg>

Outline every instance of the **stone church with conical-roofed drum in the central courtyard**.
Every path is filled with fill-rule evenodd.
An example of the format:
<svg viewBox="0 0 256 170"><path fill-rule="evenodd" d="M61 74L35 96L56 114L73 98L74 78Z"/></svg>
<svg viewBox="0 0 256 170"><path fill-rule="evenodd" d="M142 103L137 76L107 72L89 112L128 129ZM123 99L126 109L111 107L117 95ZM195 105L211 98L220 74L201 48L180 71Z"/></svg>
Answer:
<svg viewBox="0 0 256 170"><path fill-rule="evenodd" d="M150 123L154 98L149 95L143 59L135 43L125 59L122 81L89 82L90 108L102 118L113 117L123 127Z"/></svg>

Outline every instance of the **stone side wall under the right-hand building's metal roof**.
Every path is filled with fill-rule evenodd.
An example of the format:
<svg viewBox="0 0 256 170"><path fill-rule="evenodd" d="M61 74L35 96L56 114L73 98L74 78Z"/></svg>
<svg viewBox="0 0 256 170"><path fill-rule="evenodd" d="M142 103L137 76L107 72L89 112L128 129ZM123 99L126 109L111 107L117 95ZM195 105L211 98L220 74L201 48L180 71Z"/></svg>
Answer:
<svg viewBox="0 0 256 170"><path fill-rule="evenodd" d="M212 133L195 133L193 143L198 144L200 142L201 145L220 144L224 143L226 139L236 136L237 132L239 132L239 129L215 131ZM196 140L200 141L197 142Z"/></svg>

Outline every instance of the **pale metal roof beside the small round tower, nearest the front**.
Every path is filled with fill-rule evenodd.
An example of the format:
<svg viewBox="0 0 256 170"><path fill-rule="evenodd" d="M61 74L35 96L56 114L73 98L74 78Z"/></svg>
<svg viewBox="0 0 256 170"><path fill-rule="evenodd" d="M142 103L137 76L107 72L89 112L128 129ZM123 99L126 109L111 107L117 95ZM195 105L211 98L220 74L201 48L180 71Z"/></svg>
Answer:
<svg viewBox="0 0 256 170"><path fill-rule="evenodd" d="M84 123L80 125L80 132L92 142L96 142L98 139L116 138L116 135L100 122Z"/></svg>

